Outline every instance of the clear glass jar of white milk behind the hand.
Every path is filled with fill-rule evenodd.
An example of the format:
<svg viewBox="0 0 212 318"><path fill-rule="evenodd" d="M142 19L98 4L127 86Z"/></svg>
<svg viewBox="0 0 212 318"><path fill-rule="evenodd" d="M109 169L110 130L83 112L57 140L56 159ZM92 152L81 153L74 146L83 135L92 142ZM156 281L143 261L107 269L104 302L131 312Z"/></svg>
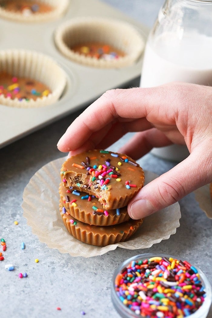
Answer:
<svg viewBox="0 0 212 318"><path fill-rule="evenodd" d="M166 0L159 11L147 39L140 86L173 81L212 86L212 1ZM189 155L181 145L152 153L175 161Z"/></svg>

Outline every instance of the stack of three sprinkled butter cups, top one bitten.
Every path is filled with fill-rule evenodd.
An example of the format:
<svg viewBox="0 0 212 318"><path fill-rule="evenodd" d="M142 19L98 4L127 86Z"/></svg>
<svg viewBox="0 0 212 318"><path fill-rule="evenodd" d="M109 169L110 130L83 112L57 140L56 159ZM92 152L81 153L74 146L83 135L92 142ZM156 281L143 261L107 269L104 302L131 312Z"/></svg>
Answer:
<svg viewBox="0 0 212 318"><path fill-rule="evenodd" d="M127 213L144 184L144 172L132 158L90 150L67 159L60 174L60 215L74 238L106 246L128 240L142 224Z"/></svg>

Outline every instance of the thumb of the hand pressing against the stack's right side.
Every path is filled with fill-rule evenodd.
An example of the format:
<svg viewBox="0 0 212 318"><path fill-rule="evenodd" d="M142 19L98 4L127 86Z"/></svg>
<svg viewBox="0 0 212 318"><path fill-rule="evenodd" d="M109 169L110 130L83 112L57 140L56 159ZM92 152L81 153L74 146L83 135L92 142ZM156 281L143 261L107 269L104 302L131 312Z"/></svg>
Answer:
<svg viewBox="0 0 212 318"><path fill-rule="evenodd" d="M200 153L200 152L199 152ZM209 156L202 160L191 154L174 168L145 185L128 204L128 214L140 219L159 211L204 184L210 183L212 167Z"/></svg>

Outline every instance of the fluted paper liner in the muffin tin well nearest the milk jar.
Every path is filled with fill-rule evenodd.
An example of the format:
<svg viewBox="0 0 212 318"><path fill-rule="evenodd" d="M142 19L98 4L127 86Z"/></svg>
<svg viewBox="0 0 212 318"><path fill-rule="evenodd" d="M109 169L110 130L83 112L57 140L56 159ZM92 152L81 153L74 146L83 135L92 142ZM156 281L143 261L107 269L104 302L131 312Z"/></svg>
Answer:
<svg viewBox="0 0 212 318"><path fill-rule="evenodd" d="M88 42L113 45L126 55L118 59L104 60L86 57L70 49L73 45ZM97 17L74 18L66 21L55 32L55 44L68 59L99 68L129 66L140 57L144 49L143 38L131 24Z"/></svg>

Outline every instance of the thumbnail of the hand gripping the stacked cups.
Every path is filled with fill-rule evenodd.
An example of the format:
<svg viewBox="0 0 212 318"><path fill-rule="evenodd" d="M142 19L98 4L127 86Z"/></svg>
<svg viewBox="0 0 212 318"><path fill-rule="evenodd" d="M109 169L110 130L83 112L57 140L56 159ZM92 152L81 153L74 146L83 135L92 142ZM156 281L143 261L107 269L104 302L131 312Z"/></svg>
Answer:
<svg viewBox="0 0 212 318"><path fill-rule="evenodd" d="M148 200L135 201L130 207L131 218L137 220L145 218L154 212L154 207Z"/></svg>

